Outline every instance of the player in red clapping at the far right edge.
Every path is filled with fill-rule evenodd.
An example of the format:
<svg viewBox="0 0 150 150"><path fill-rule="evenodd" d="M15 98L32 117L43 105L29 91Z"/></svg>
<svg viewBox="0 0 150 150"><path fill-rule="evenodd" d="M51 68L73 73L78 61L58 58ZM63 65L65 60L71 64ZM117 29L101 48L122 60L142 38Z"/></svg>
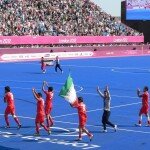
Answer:
<svg viewBox="0 0 150 150"><path fill-rule="evenodd" d="M149 93L148 87L145 86L143 89L143 93L141 93L140 89L137 89L138 97L142 98L142 107L139 112L139 122L135 124L136 126L142 126L142 115L144 114L147 117L147 126L150 126L150 118L149 118Z"/></svg>

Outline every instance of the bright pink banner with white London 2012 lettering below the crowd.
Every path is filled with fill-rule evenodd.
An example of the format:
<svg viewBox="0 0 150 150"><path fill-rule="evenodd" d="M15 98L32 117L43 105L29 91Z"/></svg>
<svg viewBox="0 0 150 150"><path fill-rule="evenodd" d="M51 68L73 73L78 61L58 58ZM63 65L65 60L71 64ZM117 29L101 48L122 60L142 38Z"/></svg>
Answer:
<svg viewBox="0 0 150 150"><path fill-rule="evenodd" d="M144 36L0 36L0 45L139 42L144 42Z"/></svg>

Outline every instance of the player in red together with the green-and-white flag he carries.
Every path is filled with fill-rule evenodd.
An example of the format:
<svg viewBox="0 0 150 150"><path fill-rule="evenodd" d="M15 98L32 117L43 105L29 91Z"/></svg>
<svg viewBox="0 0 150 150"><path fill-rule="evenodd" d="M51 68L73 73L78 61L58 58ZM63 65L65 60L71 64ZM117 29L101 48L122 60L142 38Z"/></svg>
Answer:
<svg viewBox="0 0 150 150"><path fill-rule="evenodd" d="M59 96L65 98L65 100L68 101L72 107L77 108L78 110L79 138L77 140L81 141L82 133L85 132L89 136L91 141L93 135L85 128L87 122L86 105L83 103L82 97L77 98L76 91L74 89L73 80L70 75L68 76L65 85L62 87Z"/></svg>

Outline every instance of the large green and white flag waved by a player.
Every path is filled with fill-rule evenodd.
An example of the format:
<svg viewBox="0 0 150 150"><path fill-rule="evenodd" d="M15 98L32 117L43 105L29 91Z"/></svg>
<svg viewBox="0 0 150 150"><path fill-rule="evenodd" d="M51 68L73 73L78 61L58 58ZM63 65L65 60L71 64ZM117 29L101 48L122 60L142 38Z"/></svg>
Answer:
<svg viewBox="0 0 150 150"><path fill-rule="evenodd" d="M59 96L63 97L70 104L75 104L77 100L76 90L74 88L73 79L69 75L65 85L62 87Z"/></svg>

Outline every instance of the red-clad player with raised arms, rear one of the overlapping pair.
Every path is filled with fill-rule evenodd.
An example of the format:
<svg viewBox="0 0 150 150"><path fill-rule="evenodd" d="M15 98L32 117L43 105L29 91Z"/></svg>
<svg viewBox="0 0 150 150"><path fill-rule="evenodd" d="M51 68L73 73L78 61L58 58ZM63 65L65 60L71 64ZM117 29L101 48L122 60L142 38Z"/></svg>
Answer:
<svg viewBox="0 0 150 150"><path fill-rule="evenodd" d="M48 87L48 90L45 90L45 85ZM46 101L45 101L45 115L46 115L46 121L47 121L47 127L53 126L53 119L51 116L52 111L52 100L54 96L53 87L49 87L47 82L43 82L42 90L46 95Z"/></svg>

